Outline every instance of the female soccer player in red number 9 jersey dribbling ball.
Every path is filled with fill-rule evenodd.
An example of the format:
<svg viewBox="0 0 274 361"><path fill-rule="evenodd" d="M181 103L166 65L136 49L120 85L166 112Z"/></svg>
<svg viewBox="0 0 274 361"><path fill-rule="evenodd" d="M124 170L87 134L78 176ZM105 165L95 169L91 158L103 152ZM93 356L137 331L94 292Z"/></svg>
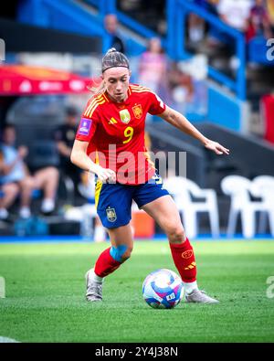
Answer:
<svg viewBox="0 0 274 361"><path fill-rule="evenodd" d="M216 154L229 154L229 150L205 138L152 90L131 84L129 60L115 48L102 58L101 71L100 89L83 111L70 157L73 164L97 175L97 212L111 239L111 247L100 254L86 274L86 298L101 301L104 278L131 257L133 199L166 233L174 264L184 282L185 301L217 303L197 287L194 250L184 234L174 200L163 189L147 156L146 114L157 114Z"/></svg>

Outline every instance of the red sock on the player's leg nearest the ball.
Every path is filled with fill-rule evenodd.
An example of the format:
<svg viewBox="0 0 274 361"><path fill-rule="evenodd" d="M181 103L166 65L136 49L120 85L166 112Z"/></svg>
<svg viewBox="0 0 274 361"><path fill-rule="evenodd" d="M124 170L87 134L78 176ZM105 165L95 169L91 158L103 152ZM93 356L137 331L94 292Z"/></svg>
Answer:
<svg viewBox="0 0 274 361"><path fill-rule="evenodd" d="M169 244L174 259L174 264L184 282L196 281L195 254L188 239L184 243Z"/></svg>

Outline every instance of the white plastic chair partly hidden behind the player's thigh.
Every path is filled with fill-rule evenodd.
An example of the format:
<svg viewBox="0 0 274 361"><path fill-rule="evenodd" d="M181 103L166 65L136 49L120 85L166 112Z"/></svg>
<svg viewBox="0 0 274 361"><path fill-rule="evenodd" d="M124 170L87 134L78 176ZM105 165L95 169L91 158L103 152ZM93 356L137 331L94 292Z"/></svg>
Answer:
<svg viewBox="0 0 274 361"><path fill-rule="evenodd" d="M198 212L208 213L212 236L219 237L219 215L214 189L202 189L195 182L182 176L165 179L163 187L174 197L174 202L183 217L188 237L195 238L198 234ZM205 200L194 201L195 198L204 198Z"/></svg>

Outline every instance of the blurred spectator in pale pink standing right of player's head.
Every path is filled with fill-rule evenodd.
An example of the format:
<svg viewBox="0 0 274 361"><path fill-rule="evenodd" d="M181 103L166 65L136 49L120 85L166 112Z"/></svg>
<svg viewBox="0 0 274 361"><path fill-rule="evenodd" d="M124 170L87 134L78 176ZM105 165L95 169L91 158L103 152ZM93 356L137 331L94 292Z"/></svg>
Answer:
<svg viewBox="0 0 274 361"><path fill-rule="evenodd" d="M139 82L143 86L165 97L167 90L168 61L159 37L149 40L148 48L142 53L139 62Z"/></svg>

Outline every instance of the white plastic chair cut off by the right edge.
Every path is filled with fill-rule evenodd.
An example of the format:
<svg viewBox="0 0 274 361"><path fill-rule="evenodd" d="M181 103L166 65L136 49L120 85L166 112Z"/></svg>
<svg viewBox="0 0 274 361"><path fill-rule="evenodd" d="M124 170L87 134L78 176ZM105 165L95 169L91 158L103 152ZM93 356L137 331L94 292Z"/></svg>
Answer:
<svg viewBox="0 0 274 361"><path fill-rule="evenodd" d="M261 211L258 221L258 232L266 231L269 217L269 228L274 237L274 176L258 175L252 181L252 195L259 196L263 203L265 211Z"/></svg>

